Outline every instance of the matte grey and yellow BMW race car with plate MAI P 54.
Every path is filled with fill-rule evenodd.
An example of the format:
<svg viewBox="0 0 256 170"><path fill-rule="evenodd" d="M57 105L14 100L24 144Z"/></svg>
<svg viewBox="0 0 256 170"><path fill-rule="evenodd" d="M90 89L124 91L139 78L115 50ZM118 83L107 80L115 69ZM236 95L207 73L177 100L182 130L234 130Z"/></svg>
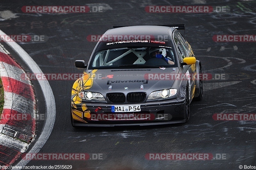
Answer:
<svg viewBox="0 0 256 170"><path fill-rule="evenodd" d="M201 63L178 31L185 25L116 26L96 44L71 93L71 124L185 123L203 97Z"/></svg>

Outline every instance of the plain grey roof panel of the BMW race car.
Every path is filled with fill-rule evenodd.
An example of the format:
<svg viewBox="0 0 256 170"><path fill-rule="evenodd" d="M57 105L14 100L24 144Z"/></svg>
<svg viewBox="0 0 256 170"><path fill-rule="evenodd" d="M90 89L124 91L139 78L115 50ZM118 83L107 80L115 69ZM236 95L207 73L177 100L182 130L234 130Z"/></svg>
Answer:
<svg viewBox="0 0 256 170"><path fill-rule="evenodd" d="M127 26L109 29L104 35L170 35L173 27L164 26Z"/></svg>

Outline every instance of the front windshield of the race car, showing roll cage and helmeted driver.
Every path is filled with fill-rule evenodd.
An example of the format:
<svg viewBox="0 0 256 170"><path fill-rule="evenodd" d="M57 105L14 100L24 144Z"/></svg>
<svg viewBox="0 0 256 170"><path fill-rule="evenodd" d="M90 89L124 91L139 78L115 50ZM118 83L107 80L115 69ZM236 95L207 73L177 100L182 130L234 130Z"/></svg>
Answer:
<svg viewBox="0 0 256 170"><path fill-rule="evenodd" d="M91 69L177 67L172 47L123 47L96 51Z"/></svg>

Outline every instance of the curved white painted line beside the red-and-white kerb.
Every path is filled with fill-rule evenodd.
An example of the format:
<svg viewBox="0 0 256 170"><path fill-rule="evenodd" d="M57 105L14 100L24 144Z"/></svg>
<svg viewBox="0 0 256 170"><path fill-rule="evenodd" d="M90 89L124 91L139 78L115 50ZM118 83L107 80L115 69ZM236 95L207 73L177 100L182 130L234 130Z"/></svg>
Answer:
<svg viewBox="0 0 256 170"><path fill-rule="evenodd" d="M0 35L6 34L2 30L0 30ZM20 58L23 59L23 61L27 64L27 66L33 73L43 73L40 67L36 64L36 62L28 55L25 50L20 47L19 44L17 44L16 42L5 43L7 43L20 56ZM56 108L52 88L47 80L41 80L38 81L38 83L41 86L46 104L46 120L44 122L44 127L41 135L28 153L38 153L40 151L40 149L44 146L45 142L48 140L55 122ZM21 159L20 162L18 162L16 165L25 166L29 161L30 160Z"/></svg>

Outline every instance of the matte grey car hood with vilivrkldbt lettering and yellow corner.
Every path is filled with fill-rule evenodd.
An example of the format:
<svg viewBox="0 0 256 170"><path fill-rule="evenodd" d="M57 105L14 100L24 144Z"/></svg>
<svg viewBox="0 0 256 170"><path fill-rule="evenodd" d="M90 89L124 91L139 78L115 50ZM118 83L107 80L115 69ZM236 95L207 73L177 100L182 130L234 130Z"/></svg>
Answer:
<svg viewBox="0 0 256 170"><path fill-rule="evenodd" d="M85 70L82 77L84 91L107 93L146 92L170 89L179 68L100 69ZM169 75L169 78L168 78Z"/></svg>

